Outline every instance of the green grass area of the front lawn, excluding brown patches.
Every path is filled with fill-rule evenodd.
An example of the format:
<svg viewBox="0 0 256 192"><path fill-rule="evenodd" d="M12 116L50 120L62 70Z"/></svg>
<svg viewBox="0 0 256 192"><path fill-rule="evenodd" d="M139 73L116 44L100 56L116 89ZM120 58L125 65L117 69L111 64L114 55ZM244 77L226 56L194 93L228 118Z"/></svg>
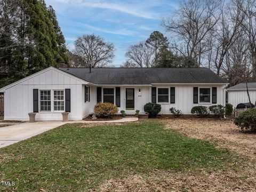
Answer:
<svg viewBox="0 0 256 192"><path fill-rule="evenodd" d="M233 161L227 150L165 130L157 120L81 126L66 124L0 149L0 181L15 181L17 191L86 191L135 173L212 171Z"/></svg>

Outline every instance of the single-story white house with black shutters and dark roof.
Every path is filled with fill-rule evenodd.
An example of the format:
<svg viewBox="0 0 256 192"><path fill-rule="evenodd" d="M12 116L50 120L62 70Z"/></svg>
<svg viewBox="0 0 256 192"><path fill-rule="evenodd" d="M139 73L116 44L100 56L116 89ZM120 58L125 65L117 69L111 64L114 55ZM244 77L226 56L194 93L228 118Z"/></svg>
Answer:
<svg viewBox="0 0 256 192"><path fill-rule="evenodd" d="M4 119L81 120L97 102L114 103L127 114L144 113L148 102L161 104L160 114L175 107L190 114L197 105L225 106L227 82L207 68L54 68L49 67L0 89Z"/></svg>

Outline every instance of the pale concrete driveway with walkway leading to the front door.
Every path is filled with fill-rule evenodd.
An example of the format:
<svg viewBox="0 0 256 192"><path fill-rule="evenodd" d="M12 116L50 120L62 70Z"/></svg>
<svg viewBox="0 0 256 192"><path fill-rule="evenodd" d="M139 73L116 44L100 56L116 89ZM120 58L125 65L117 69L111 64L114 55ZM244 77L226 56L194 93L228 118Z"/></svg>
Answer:
<svg viewBox="0 0 256 192"><path fill-rule="evenodd" d="M13 143L31 138L45 131L54 129L66 123L122 123L137 121L138 118L122 118L113 121L45 121L35 123L19 123L15 125L0 127L0 148L9 146Z"/></svg>

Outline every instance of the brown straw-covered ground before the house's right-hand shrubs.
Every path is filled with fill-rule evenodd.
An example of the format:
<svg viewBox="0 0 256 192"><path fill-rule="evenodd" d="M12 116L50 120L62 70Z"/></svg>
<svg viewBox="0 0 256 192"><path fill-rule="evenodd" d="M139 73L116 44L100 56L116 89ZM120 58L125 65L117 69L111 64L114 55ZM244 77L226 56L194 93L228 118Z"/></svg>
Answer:
<svg viewBox="0 0 256 192"><path fill-rule="evenodd" d="M243 157L256 159L256 134L243 133L224 119L165 119L166 129L177 130L188 137L217 143Z"/></svg>

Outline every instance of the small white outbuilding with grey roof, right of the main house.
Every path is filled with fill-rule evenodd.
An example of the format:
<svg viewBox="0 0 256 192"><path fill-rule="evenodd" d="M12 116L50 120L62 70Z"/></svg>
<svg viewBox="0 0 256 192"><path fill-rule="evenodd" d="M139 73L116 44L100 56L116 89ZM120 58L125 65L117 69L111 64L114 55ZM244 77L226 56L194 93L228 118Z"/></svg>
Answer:
<svg viewBox="0 0 256 192"><path fill-rule="evenodd" d="M254 105L256 101L256 83L247 83L251 103ZM239 103L249 103L246 89L246 83L240 83L227 89L228 103L236 107Z"/></svg>

